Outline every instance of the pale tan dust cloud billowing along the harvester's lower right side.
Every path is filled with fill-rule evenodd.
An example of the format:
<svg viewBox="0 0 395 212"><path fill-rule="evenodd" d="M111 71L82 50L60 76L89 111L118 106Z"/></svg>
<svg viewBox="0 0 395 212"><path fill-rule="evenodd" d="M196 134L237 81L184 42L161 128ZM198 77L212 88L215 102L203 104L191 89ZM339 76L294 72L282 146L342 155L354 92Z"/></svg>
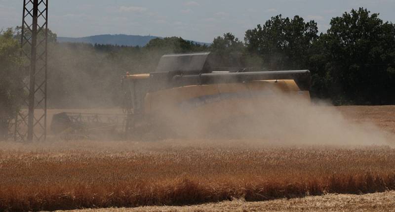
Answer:
<svg viewBox="0 0 395 212"><path fill-rule="evenodd" d="M389 132L353 123L328 103L272 91L270 96L219 101L184 113L170 109L166 117L184 138L251 139L274 145L391 144Z"/></svg>

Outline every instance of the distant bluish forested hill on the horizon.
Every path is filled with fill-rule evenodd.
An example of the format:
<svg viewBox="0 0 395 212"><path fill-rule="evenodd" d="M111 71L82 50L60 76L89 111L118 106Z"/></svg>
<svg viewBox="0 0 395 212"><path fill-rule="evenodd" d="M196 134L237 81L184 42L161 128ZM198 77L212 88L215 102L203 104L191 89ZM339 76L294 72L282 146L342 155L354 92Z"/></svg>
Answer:
<svg viewBox="0 0 395 212"><path fill-rule="evenodd" d="M113 44L113 45L127 45L127 46L144 46L152 39L162 38L157 36L135 36L135 35L96 35L83 38L68 38L68 37L58 37L58 42L83 42L91 44ZM206 42L196 42L199 44L210 45Z"/></svg>

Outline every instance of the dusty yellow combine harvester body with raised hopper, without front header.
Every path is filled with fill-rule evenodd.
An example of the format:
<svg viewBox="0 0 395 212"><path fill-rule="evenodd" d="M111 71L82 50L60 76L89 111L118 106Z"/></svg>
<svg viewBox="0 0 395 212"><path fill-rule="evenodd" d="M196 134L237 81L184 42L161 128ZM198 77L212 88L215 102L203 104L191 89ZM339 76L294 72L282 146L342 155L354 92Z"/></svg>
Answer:
<svg viewBox="0 0 395 212"><path fill-rule="evenodd" d="M308 70L253 71L210 52L167 54L155 72L123 77L126 132L162 138L228 134L237 122L270 112L265 104L280 93L310 101L310 84Z"/></svg>

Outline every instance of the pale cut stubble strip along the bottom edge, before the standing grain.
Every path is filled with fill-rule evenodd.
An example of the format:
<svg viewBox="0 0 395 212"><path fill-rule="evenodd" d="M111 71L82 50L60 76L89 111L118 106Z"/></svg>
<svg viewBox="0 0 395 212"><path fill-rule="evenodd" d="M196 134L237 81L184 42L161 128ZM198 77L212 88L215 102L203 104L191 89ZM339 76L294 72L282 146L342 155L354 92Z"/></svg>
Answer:
<svg viewBox="0 0 395 212"><path fill-rule="evenodd" d="M245 202L243 200L184 207L140 207L134 209L87 209L73 212L371 212L395 211L395 192L365 195L329 194L316 197L281 199L266 202Z"/></svg>

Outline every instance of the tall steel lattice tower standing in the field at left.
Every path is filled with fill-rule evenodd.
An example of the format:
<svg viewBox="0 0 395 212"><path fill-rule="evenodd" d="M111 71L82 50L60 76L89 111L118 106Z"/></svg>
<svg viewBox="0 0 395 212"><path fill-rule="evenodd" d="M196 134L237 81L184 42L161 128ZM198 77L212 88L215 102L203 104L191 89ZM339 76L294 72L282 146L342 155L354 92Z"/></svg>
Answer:
<svg viewBox="0 0 395 212"><path fill-rule="evenodd" d="M48 49L48 0L24 0L21 32L21 55L25 96L22 110L14 121L14 139L33 141L46 139L46 91ZM28 108L26 111L25 108Z"/></svg>

